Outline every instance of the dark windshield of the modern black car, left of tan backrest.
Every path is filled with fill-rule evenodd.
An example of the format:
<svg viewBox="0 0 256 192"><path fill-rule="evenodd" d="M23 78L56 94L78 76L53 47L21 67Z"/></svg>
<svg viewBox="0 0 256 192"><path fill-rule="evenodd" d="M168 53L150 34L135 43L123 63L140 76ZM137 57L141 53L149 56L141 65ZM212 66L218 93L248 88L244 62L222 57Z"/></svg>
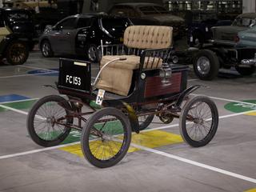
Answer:
<svg viewBox="0 0 256 192"><path fill-rule="evenodd" d="M130 26L129 22L124 18L102 18L102 27L110 34L123 32L127 26Z"/></svg>

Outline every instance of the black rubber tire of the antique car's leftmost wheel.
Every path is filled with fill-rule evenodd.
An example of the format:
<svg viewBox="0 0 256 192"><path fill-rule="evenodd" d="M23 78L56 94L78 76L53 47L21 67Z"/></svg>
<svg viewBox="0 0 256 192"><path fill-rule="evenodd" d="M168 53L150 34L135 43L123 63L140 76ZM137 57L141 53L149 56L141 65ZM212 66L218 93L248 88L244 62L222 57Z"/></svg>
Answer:
<svg viewBox="0 0 256 192"><path fill-rule="evenodd" d="M54 139L53 141L46 141L43 140L42 138L38 137L38 134L36 134L36 132L34 131L34 115L37 113L38 109L45 104L46 102L62 102L62 104L66 107L66 109L70 110L70 104L68 102L66 102L65 98L62 98L61 96L58 95L49 95L46 96L44 98L41 98L38 100L38 102L36 102L34 104L34 106L31 108L27 119L26 119L26 126L27 126L27 130L28 133L30 134L30 137L32 138L32 140L37 143L39 146L45 146L45 147L49 147L49 146L58 146L58 144L60 144L61 142L63 142L65 140L65 138L70 134L70 127L66 127L66 130L64 132L64 134L61 135L61 137L58 137L56 139ZM66 110L66 114L69 114L68 110ZM69 120L70 124L73 123L73 118Z"/></svg>

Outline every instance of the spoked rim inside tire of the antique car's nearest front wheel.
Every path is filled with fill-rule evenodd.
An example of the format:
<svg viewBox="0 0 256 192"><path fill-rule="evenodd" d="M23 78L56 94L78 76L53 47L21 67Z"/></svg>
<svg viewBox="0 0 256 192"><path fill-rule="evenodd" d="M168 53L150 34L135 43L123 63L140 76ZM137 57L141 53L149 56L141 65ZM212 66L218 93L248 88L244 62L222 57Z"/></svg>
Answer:
<svg viewBox="0 0 256 192"><path fill-rule="evenodd" d="M90 127L90 139L90 154L98 161L111 161L126 146L125 122L112 115L103 116Z"/></svg>

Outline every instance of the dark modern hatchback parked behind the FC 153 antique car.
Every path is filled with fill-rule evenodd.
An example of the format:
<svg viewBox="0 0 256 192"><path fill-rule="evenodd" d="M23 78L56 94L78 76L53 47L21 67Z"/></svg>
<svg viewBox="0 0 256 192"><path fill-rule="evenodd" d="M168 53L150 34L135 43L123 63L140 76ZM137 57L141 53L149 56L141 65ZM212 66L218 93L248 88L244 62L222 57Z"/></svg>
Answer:
<svg viewBox="0 0 256 192"><path fill-rule="evenodd" d="M39 48L44 57L73 54L96 62L98 46L101 43L121 43L123 33L130 25L128 18L105 14L76 14L46 28L39 38Z"/></svg>

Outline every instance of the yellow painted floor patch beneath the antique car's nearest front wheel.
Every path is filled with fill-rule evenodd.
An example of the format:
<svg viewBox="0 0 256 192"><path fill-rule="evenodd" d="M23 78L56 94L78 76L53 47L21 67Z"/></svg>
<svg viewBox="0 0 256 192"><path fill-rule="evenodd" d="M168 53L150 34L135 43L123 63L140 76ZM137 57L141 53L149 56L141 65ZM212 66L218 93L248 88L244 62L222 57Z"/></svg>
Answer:
<svg viewBox="0 0 256 192"><path fill-rule="evenodd" d="M97 142L97 141L94 141ZM176 143L183 142L182 137L178 134L172 134L162 130L152 130L147 132L142 132L140 134L133 134L132 143L135 143L140 146L146 146L149 148L156 148L160 146L168 146ZM74 146L65 146L60 148L60 150L64 150L71 154L78 155L79 157L83 157L81 145L77 144ZM140 150L137 147L130 146L128 153Z"/></svg>

